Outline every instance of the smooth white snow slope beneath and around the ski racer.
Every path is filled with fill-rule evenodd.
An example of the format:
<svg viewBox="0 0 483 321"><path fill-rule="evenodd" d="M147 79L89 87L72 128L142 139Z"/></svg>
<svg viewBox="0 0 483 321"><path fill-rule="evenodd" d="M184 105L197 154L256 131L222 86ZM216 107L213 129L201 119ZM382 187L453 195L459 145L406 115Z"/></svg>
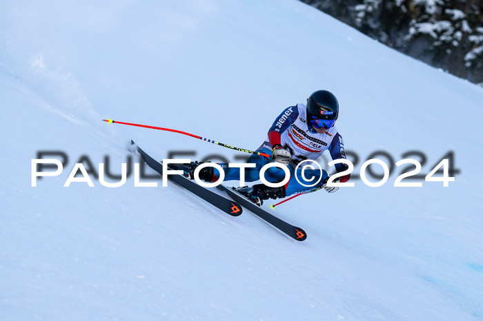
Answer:
<svg viewBox="0 0 483 321"><path fill-rule="evenodd" d="M84 154L119 173L130 138L159 159L239 155L102 118L255 149L321 88L339 98L347 149L422 150L426 174L453 150L461 173L281 205L305 242L160 181L63 187ZM298 1L4 1L0 319L482 320L482 102L481 87ZM69 163L31 187L40 150Z"/></svg>

